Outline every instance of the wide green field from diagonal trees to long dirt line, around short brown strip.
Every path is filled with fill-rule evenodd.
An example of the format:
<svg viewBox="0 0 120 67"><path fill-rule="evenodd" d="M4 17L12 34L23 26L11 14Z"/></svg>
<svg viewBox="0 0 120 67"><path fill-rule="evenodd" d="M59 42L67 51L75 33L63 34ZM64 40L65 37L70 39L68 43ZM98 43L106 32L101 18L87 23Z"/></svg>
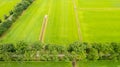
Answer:
<svg viewBox="0 0 120 67"><path fill-rule="evenodd" d="M4 34L1 42L39 41L45 15L48 15L45 43L68 44L79 40L72 0L36 0Z"/></svg>

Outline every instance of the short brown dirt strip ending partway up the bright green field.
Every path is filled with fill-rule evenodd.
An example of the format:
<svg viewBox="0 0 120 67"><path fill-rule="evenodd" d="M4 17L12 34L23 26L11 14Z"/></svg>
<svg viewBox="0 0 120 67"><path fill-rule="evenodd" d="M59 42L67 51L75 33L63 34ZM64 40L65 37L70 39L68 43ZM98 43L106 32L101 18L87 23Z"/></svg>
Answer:
<svg viewBox="0 0 120 67"><path fill-rule="evenodd" d="M40 33L40 38L39 40L43 43L44 42L44 35L47 27L47 21L48 21L48 15L44 16L43 23L42 23L42 29Z"/></svg>

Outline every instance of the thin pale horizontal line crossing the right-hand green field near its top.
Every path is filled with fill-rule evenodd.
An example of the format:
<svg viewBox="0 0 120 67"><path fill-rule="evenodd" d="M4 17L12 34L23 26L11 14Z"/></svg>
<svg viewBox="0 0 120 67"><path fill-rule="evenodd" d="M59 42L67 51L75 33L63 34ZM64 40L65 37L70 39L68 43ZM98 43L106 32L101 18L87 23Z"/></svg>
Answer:
<svg viewBox="0 0 120 67"><path fill-rule="evenodd" d="M77 8L78 10L91 10L91 11L113 11L120 10L120 8Z"/></svg>

